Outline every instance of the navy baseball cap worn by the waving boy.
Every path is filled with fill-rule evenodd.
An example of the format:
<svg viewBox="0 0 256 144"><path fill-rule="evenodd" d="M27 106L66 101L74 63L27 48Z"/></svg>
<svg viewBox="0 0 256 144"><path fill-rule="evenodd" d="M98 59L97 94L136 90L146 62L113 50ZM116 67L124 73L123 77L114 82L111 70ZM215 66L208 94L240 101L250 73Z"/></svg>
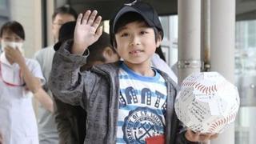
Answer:
<svg viewBox="0 0 256 144"><path fill-rule="evenodd" d="M116 33L115 26L118 20L122 17L123 14L130 12L141 15L149 26L155 27L159 32L161 32L161 36L163 38L163 30L161 22L158 18L158 13L152 6L150 6L150 4L135 0L134 2L123 4L120 10L118 10L118 13L114 15L114 18L110 19L110 40L112 45L114 44L114 34Z"/></svg>

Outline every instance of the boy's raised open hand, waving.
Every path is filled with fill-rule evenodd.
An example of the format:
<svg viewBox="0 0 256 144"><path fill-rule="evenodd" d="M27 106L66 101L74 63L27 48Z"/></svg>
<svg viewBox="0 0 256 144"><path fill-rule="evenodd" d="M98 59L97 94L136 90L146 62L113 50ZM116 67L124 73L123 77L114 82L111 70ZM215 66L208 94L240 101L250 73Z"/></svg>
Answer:
<svg viewBox="0 0 256 144"><path fill-rule="evenodd" d="M74 29L74 44L71 53L83 54L88 46L93 44L102 35L101 16L97 16L97 10L87 10L85 14L79 14Z"/></svg>

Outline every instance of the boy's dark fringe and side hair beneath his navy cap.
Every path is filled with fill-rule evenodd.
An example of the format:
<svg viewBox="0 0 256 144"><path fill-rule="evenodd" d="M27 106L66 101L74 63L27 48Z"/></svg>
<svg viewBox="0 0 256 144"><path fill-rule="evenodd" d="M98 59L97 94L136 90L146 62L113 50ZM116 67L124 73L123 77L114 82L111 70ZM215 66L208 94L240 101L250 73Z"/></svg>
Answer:
<svg viewBox="0 0 256 144"><path fill-rule="evenodd" d="M121 28L123 26L126 26L126 24L128 24L130 22L145 22L146 26L151 27L148 25L148 23L145 21L145 19L142 18L142 15L135 13L135 12L129 12L126 14L122 14L122 16L118 19L118 22L116 22L116 25L114 27L114 34L118 33L118 31L121 30ZM155 42L157 42L157 39L161 34L156 27L152 27L152 28L154 29ZM111 42L116 47L114 35L111 36L110 38L111 38Z"/></svg>

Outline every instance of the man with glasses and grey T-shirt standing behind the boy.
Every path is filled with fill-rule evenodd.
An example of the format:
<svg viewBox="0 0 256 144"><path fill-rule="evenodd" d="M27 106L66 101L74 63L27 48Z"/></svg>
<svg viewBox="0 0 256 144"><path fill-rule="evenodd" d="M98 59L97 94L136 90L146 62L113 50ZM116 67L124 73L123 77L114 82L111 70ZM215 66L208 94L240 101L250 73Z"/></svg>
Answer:
<svg viewBox="0 0 256 144"><path fill-rule="evenodd" d="M75 21L78 14L70 6L61 6L54 10L52 16L52 33L54 34L54 42L58 42L58 33L60 27L66 23ZM41 90L42 95L48 94L52 98L52 93L48 89L48 78L50 75L51 65L54 57L54 46L48 46L39 50L34 58L39 62L42 68L42 74L46 79L46 84ZM46 93L46 92L47 93ZM38 107L38 133L40 144L58 144L58 131L54 121L54 114L50 110L46 110L43 106Z"/></svg>

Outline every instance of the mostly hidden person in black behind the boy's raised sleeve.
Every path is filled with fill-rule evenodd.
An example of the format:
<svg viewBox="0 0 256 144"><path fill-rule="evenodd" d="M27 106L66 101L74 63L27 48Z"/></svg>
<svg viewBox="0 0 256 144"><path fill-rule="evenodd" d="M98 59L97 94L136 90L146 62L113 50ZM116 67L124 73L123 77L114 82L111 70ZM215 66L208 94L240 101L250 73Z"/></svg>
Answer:
<svg viewBox="0 0 256 144"><path fill-rule="evenodd" d="M58 42L54 45L54 50L58 50L68 39L74 38L74 22L64 23L58 34ZM53 95L54 97L54 95ZM54 98L55 103L55 122L57 124L59 144L80 144L84 140L86 131L86 112L81 106L72 106Z"/></svg>

